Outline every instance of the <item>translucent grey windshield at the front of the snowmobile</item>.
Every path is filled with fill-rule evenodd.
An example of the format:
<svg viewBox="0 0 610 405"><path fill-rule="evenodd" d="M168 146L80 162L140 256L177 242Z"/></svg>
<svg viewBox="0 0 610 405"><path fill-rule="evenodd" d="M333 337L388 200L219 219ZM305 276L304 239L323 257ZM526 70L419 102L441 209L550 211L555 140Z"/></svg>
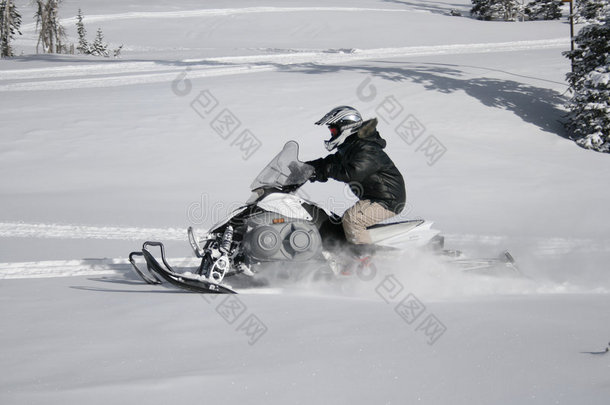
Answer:
<svg viewBox="0 0 610 405"><path fill-rule="evenodd" d="M256 179L250 185L250 190L300 186L311 177L313 171L312 166L299 160L299 144L290 141L256 176Z"/></svg>

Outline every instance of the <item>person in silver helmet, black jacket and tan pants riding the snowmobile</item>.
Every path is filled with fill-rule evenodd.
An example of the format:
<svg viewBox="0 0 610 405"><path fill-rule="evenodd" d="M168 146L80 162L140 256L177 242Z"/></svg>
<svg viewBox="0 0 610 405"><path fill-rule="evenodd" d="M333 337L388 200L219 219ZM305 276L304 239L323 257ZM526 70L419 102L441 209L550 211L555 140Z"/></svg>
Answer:
<svg viewBox="0 0 610 405"><path fill-rule="evenodd" d="M363 252L371 245L367 227L402 211L406 201L405 182L383 151L386 141L377 132L377 118L362 120L349 106L332 109L316 125L326 125L331 138L326 149L337 151L325 158L306 162L315 169L310 181L329 178L347 183L359 201L343 214L342 224L348 242Z"/></svg>

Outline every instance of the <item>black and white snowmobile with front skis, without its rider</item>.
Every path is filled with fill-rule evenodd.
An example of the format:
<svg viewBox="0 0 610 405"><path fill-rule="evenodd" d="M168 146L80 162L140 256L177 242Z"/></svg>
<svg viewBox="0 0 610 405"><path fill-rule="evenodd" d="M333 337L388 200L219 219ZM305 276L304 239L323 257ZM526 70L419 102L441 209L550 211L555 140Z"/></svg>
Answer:
<svg viewBox="0 0 610 405"><path fill-rule="evenodd" d="M193 228L188 228L191 248L201 259L198 267L182 272L173 269L163 243L147 241L141 251L129 255L136 273L149 284L160 284L164 279L198 293L236 293L227 279L256 285L257 275L274 264L287 273L314 268L319 276L339 277L357 258L346 253L351 244L345 239L341 217L297 195L314 171L299 160L298 152L297 142L286 143L252 182L252 195L246 203L205 235L197 237ZM427 249L463 271L502 268L518 272L508 252L498 258L472 260L463 258L459 251L444 249L444 237L426 220L382 223L368 231L374 254ZM153 247L160 249L161 262L151 252ZM146 271L140 269L136 257L144 258Z"/></svg>

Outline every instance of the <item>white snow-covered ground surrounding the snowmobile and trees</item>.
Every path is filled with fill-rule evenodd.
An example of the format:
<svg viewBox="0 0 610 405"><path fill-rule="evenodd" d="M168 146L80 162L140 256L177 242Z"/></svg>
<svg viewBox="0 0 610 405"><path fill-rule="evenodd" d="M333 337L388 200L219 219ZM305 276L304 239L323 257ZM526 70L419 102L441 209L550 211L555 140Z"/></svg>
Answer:
<svg viewBox="0 0 610 405"><path fill-rule="evenodd" d="M64 1L75 43L78 8L121 59L35 55L28 17L0 61L0 403L607 403L610 161L561 125L565 21L446 15L464 0ZM260 147L214 132L202 94ZM191 263L186 227L245 201L286 141L322 156L313 122L343 104L380 118L404 216L527 277L410 253L368 281L228 298L130 272L148 238Z"/></svg>

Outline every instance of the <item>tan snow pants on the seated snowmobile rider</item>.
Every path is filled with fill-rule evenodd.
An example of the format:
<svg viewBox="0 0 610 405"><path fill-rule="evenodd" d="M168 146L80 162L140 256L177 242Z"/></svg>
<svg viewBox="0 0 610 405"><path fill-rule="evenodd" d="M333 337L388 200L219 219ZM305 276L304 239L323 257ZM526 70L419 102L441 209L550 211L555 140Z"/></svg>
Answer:
<svg viewBox="0 0 610 405"><path fill-rule="evenodd" d="M343 214L343 230L348 242L354 244L372 243L371 235L366 230L384 219L396 214L381 204L371 200L360 200Z"/></svg>

